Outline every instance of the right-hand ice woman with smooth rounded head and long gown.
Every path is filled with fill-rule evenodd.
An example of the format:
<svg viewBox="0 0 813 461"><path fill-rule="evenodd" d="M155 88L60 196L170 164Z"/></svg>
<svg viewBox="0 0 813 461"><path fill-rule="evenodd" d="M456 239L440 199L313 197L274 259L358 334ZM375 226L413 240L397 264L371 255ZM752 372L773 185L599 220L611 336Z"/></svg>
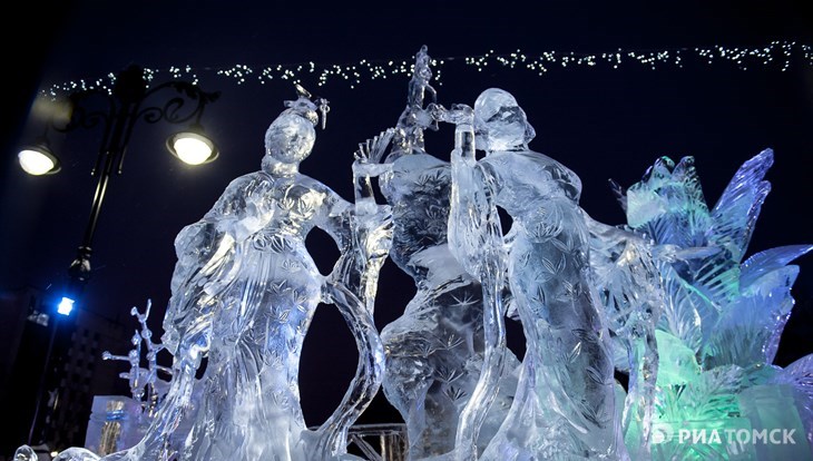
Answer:
<svg viewBox="0 0 813 461"><path fill-rule="evenodd" d="M438 111L458 124L450 248L481 278L499 276L493 259L507 259L527 342L513 404L483 459L625 458L609 337L589 286L578 176L528 148L533 128L505 90L483 91L473 114L462 105ZM474 146L486 151L479 161ZM497 206L512 226L494 242Z"/></svg>

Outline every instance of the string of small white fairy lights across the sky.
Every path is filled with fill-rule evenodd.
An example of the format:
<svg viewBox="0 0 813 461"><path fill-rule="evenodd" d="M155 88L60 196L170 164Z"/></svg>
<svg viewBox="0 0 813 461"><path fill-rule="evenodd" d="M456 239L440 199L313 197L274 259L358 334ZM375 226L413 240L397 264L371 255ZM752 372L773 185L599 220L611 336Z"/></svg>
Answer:
<svg viewBox="0 0 813 461"><path fill-rule="evenodd" d="M432 82L443 85L443 70L452 63L462 63L481 72L489 68L525 70L536 76L548 72L579 68L611 68L637 67L656 70L659 68L683 68L693 60L703 65L734 66L739 70L754 68L774 68L786 71L791 66L813 66L813 47L795 41L772 41L761 47L727 47L711 46L695 48L673 48L662 50L623 50L605 51L600 53L546 51L539 55L529 55L521 50L508 53L497 53L489 50L479 56L459 56L432 58ZM409 59L361 59L351 63L276 63L270 66L233 65L228 68L173 66L168 69L145 69L148 82L159 78L185 79L193 84L199 81L199 76L206 73L233 80L237 85L266 85L275 80L303 84L304 80L315 81L324 86L335 81L350 88L356 88L368 80L386 79L390 77L411 75L413 57ZM115 73L92 80L71 80L51 86L43 94L58 97L75 91L101 89L112 91L116 81Z"/></svg>

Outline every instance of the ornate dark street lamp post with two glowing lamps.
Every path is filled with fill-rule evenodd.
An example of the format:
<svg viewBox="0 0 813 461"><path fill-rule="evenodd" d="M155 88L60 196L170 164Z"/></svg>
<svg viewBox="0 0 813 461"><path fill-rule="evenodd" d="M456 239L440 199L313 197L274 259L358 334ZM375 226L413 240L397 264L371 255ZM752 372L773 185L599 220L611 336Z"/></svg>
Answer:
<svg viewBox="0 0 813 461"><path fill-rule="evenodd" d="M169 99L160 105L149 105L150 101L157 99L159 94L168 95ZM97 178L97 184L90 206L90 216L76 258L68 267L67 297L76 300L90 278L91 248L101 206L114 171L119 175L123 171L127 145L136 124L139 120L147 124L156 124L161 120L175 125L187 124L186 130L167 139L167 148L173 155L186 163L193 165L208 163L214 160L218 153L214 143L206 137L200 126L200 118L205 107L218 97L219 92L205 92L194 84L179 80L172 80L148 89L144 70L138 66L130 66L116 76L111 91L91 89L71 94L68 99L72 112L67 124L59 126L57 122L49 121L47 130L53 129L62 134L77 128L89 129L96 127L101 127L104 131L96 165L91 173ZM92 100L100 100L101 102L96 106L100 108L86 107L90 106ZM19 160L27 173L35 175L56 173L60 165L58 157L50 151L45 137L38 145L21 150ZM72 302L63 300L63 303L59 306L59 313L69 315L71 305ZM55 322L53 336L57 335L58 324L59 321ZM53 373L55 370L53 366L49 369L49 362L57 359L55 355L62 352L51 351L53 344L55 341L51 339L45 364L46 370L50 370L50 373ZM45 416L42 400L46 385L48 385L49 391L53 391L59 383L58 376L50 376L48 380L45 376L42 377L29 432L29 443L45 441L42 432L46 430L46 424L42 421ZM50 381L50 384L46 384L46 381ZM35 428L40 430L35 431ZM41 440L31 440L37 437L40 437Z"/></svg>

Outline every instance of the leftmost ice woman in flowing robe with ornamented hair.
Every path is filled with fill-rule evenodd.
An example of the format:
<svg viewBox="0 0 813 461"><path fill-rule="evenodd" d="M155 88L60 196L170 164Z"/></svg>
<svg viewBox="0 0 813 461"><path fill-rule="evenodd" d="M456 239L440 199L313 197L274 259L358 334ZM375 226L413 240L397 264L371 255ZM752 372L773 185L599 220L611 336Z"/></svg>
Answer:
<svg viewBox="0 0 813 461"><path fill-rule="evenodd" d="M233 180L203 219L176 238L178 262L163 339L174 353L176 377L131 458L159 459L150 457L161 449L195 461L349 457L346 431L371 402L383 373L372 312L352 281L368 271L365 248L388 238L388 214L385 207L356 214L327 186L298 173L315 139L316 105L308 97L300 88L298 99L288 101L268 127L262 169ZM305 248L314 227L330 234L343 254L327 276ZM360 236L364 242L357 248ZM300 406L297 374L320 302L339 307L360 360L341 406L311 431ZM203 356L206 371L195 382ZM199 392L194 401L193 384ZM186 419L192 428L177 440L173 432Z"/></svg>

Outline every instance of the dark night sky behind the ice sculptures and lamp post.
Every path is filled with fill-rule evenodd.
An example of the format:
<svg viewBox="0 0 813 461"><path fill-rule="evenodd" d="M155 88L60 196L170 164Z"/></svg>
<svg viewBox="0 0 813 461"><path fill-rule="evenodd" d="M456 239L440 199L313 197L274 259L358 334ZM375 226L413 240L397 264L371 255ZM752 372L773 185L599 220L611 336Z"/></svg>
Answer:
<svg viewBox="0 0 813 461"><path fill-rule="evenodd" d="M739 165L773 148L775 164L767 174L773 189L746 257L775 246L813 243L813 67L802 59L786 71L780 63L742 70L724 61L708 65L687 52L682 68L664 63L652 70L633 62L618 69L555 66L543 76L496 66L478 71L463 59L489 50L539 56L554 50L762 47L773 40L813 45L813 16L802 9L803 2L658 2L664 4L657 9L537 2L529 9L528 2L435 1L382 4L374 12L345 2L344 9L291 3L69 1L25 6L19 18L7 16L7 21L36 18L43 28L39 36L20 37L3 28L7 48L12 48L6 73L11 82L7 85L13 86L7 88L13 112L3 124L0 165L0 288L32 286L58 294L81 241L95 187L89 173L100 143L98 130L52 136L62 159L58 175L29 177L17 167L17 148L43 127L42 117L30 110L39 90L101 78L137 63L151 69L189 65L199 69L204 90L221 92L202 120L221 148L216 161L182 165L164 148L164 139L178 127L139 124L125 173L112 178L101 210L92 277L81 308L135 327L129 308L151 298L150 325L159 334L175 235L200 218L233 178L259 168L265 129L284 109L283 101L294 98L291 81L261 85L253 78L238 85L216 70L361 59L411 62L422 45L432 58L445 59L434 84L439 102L471 105L489 87L516 96L537 131L530 147L580 176L581 206L594 218L620 224L624 215L607 180L629 186L659 156L676 161L694 156L713 206ZM340 80L319 86L306 76L303 85L327 98L331 112L302 173L351 199L353 150L395 125L408 81L409 75L398 75L365 79L351 89ZM427 138L428 150L448 159L452 128ZM308 241L323 271L336 256L326 242L324 235ZM813 352L813 256L795 264L801 267L794 286L797 303L780 349L780 365ZM379 288L378 325L398 317L412 293L412 281L388 263ZM123 344L120 352L127 347ZM355 370L353 351L335 310L317 311L301 374L308 423L321 423L339 403ZM360 422L396 419L378 402Z"/></svg>

